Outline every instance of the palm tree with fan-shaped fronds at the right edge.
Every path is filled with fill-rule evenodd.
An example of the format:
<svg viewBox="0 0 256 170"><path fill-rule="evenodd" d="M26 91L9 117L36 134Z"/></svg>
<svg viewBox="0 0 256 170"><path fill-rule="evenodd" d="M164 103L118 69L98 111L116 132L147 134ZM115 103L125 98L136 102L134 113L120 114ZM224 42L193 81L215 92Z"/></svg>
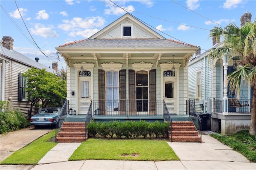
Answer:
<svg viewBox="0 0 256 170"><path fill-rule="evenodd" d="M239 28L234 23L224 29L214 27L209 37L223 38L222 45L210 49L209 57L212 61L228 56L239 56L240 61L236 71L228 75L230 90L239 95L240 85L249 83L253 89L252 115L250 134L256 134L256 20L246 23Z"/></svg>

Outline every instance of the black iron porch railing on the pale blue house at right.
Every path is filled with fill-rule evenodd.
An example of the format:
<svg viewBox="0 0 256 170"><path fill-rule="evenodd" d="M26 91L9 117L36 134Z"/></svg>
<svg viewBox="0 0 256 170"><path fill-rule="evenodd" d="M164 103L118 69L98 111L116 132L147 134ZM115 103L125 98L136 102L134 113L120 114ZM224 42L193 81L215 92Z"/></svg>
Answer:
<svg viewBox="0 0 256 170"><path fill-rule="evenodd" d="M251 113L251 100L239 100L240 103L248 103L248 106L228 107L228 113ZM222 113L222 100L213 99L213 112Z"/></svg>

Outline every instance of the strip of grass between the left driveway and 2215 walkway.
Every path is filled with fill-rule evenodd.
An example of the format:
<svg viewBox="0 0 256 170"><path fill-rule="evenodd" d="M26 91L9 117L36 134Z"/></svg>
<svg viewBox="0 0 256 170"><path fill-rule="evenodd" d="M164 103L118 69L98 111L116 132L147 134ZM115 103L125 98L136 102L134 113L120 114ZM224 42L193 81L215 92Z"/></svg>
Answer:
<svg viewBox="0 0 256 170"><path fill-rule="evenodd" d="M55 136L55 130L45 134L28 146L17 150L0 164L36 165L39 160L57 144L55 142L47 142L53 136Z"/></svg>

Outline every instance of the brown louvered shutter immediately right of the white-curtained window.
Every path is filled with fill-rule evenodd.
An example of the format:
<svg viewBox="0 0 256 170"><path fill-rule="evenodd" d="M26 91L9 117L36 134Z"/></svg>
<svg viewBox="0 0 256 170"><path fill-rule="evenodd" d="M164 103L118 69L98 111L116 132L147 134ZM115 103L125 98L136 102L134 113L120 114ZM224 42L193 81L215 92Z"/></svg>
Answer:
<svg viewBox="0 0 256 170"><path fill-rule="evenodd" d="M126 70L119 71L120 115L126 115Z"/></svg>

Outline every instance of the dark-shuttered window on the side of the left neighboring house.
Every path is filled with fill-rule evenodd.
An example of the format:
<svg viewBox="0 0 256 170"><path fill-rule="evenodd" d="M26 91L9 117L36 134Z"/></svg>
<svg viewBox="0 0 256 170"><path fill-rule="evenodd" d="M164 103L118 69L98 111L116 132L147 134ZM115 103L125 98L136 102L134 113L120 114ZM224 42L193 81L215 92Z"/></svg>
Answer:
<svg viewBox="0 0 256 170"><path fill-rule="evenodd" d="M27 83L27 77L19 73L18 101L28 101Z"/></svg>

